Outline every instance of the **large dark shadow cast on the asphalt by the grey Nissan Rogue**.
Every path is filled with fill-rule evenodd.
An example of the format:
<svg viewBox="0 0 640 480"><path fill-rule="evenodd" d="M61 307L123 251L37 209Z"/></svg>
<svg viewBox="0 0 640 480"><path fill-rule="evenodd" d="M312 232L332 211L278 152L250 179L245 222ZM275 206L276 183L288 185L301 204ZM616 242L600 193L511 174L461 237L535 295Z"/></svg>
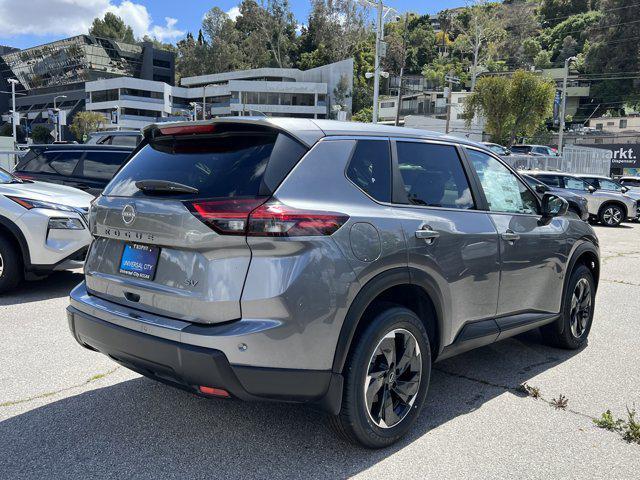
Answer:
<svg viewBox="0 0 640 480"><path fill-rule="evenodd" d="M575 354L530 333L438 363L416 426L379 451L342 441L322 413L299 405L208 400L136 378L0 422L0 471L3 478L345 478L497 396L519 396L518 385Z"/></svg>

